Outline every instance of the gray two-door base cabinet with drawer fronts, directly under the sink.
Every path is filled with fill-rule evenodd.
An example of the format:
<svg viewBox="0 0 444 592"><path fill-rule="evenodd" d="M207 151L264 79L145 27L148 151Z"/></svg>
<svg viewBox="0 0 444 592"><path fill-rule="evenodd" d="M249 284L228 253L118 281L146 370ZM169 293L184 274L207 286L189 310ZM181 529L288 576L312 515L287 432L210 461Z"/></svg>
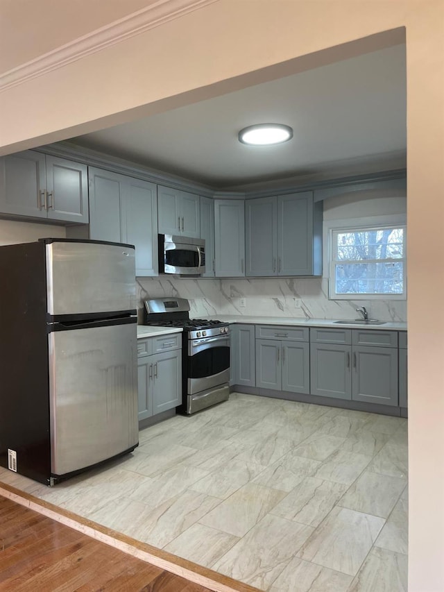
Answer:
<svg viewBox="0 0 444 592"><path fill-rule="evenodd" d="M310 339L312 395L398 405L397 332L311 329Z"/></svg>

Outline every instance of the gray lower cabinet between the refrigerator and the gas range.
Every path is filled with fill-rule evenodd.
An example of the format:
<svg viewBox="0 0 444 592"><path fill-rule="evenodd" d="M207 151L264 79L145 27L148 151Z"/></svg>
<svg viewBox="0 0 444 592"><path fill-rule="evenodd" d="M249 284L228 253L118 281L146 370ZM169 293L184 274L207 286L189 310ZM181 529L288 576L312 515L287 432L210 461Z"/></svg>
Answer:
<svg viewBox="0 0 444 592"><path fill-rule="evenodd" d="M137 340L139 421L181 403L180 334Z"/></svg>

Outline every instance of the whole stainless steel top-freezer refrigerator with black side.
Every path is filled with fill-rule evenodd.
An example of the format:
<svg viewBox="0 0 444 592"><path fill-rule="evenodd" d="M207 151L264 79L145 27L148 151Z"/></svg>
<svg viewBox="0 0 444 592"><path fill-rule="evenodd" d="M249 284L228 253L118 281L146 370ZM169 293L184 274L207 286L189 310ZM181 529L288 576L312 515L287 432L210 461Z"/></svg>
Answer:
<svg viewBox="0 0 444 592"><path fill-rule="evenodd" d="M2 246L0 278L0 465L52 485L134 450L134 247Z"/></svg>

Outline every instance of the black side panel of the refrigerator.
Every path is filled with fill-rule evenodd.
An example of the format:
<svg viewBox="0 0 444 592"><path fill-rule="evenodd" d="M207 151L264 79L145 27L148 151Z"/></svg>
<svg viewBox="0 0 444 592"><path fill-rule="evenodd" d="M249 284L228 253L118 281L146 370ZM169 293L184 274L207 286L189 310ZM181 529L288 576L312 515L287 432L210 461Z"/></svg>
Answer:
<svg viewBox="0 0 444 592"><path fill-rule="evenodd" d="M0 465L49 484L48 338L43 243L0 247Z"/></svg>

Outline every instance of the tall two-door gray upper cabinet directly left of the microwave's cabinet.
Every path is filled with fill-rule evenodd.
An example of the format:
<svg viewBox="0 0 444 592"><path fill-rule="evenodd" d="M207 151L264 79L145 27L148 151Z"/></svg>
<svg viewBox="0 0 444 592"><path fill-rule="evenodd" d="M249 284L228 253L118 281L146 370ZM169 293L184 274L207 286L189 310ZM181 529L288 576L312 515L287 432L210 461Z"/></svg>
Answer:
<svg viewBox="0 0 444 592"><path fill-rule="evenodd" d="M93 167L88 173L89 238L133 244L136 275L156 276L156 185Z"/></svg>

